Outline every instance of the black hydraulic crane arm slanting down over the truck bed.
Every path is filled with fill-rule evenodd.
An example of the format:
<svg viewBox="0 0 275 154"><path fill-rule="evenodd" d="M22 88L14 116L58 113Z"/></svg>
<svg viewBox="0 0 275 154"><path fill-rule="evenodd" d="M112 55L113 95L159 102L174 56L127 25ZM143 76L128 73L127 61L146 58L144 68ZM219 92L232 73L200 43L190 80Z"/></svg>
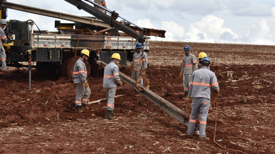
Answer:
<svg viewBox="0 0 275 154"><path fill-rule="evenodd" d="M115 28L119 29L120 31L122 31L122 32L130 35L131 37L137 39L137 41L140 42L140 43L143 43L145 41L144 33L146 32L146 30L141 28L142 32L138 33L135 30L133 30L132 28L130 28L130 27L124 25L123 23L117 21L116 19L119 17L119 15L115 11L111 12L110 10L105 9L105 8L101 7L100 5L97 5L96 3L94 3L90 0L86 0L87 2L93 3L94 5L97 5L100 8L103 8L106 11L108 11L111 14L111 16L109 16L109 15L99 11L98 9L94 8L92 5L89 5L88 3L83 2L82 0L64 0L64 1L76 6L78 9L82 9L82 10L90 13L91 15L94 15L95 17L99 18L100 20L108 23L111 27L115 27ZM122 19L124 19L124 18L122 18Z"/></svg>

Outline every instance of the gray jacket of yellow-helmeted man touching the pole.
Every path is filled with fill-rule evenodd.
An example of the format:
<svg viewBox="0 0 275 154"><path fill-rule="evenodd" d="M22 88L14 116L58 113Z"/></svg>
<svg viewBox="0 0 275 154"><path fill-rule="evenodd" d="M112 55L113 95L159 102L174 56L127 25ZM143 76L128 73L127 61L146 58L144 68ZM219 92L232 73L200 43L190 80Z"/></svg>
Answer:
<svg viewBox="0 0 275 154"><path fill-rule="evenodd" d="M104 68L103 87L116 88L117 83L120 83L119 68L117 64L112 61Z"/></svg>

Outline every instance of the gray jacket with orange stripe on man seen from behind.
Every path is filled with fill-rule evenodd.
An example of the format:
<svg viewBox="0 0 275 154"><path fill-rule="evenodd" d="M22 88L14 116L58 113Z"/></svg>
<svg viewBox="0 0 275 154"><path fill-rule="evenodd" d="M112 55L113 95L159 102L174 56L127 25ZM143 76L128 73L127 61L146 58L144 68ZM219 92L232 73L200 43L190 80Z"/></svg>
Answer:
<svg viewBox="0 0 275 154"><path fill-rule="evenodd" d="M211 87L215 91L219 90L217 77L208 67L201 67L192 74L188 96L210 99Z"/></svg>

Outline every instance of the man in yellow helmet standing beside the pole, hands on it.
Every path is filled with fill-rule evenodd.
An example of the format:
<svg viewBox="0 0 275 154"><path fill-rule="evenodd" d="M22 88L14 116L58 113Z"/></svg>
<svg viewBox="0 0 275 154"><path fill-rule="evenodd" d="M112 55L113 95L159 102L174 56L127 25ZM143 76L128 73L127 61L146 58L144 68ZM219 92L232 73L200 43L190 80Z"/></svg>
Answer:
<svg viewBox="0 0 275 154"><path fill-rule="evenodd" d="M106 119L114 119L115 113L114 109L114 101L116 95L117 84L122 85L122 81L119 78L119 68L118 65L120 63L120 55L118 53L114 53L112 55L112 61L104 68L104 76L103 76L103 88L106 89L107 95L107 112L105 115Z"/></svg>

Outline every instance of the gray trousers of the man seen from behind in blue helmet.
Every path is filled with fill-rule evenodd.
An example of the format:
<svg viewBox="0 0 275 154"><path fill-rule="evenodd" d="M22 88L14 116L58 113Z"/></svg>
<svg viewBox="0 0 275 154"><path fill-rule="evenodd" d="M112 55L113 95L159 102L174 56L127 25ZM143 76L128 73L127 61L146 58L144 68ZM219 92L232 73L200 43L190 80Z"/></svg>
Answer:
<svg viewBox="0 0 275 154"><path fill-rule="evenodd" d="M210 99L203 97L192 98L192 111L190 114L187 130L188 135L193 135L196 126L196 120L198 118L198 113L200 112L200 137L206 137L205 128L209 107Z"/></svg>

